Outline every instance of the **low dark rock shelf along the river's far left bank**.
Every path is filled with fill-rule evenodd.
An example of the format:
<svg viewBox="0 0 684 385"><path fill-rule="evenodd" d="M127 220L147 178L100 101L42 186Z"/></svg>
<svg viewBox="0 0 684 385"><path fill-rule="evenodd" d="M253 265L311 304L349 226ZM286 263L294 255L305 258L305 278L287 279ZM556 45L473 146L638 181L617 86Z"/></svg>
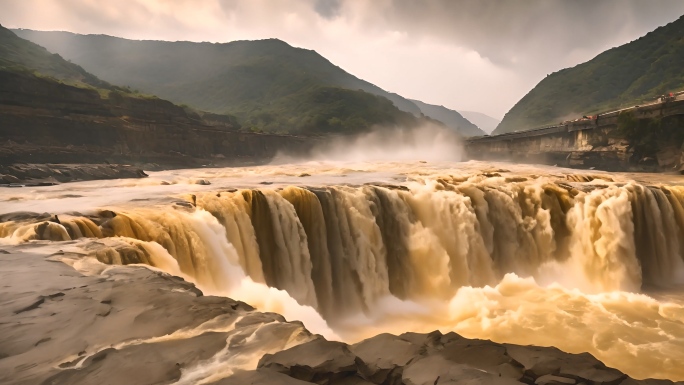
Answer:
<svg viewBox="0 0 684 385"><path fill-rule="evenodd" d="M57 183L121 178L147 174L126 164L12 164L0 165L0 186L48 186Z"/></svg>

